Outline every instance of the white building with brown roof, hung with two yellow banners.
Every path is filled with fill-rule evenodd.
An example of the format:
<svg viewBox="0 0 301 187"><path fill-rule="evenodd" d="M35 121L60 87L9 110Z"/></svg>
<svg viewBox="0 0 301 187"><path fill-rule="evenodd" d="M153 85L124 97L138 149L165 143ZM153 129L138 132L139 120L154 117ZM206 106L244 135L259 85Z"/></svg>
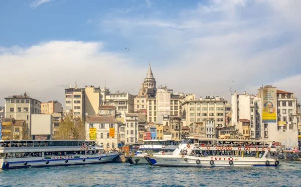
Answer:
<svg viewBox="0 0 301 187"><path fill-rule="evenodd" d="M85 122L86 140L90 139L89 128L96 128L96 143L103 148L117 148L118 124L113 116L87 116ZM114 128L114 137L109 137L110 128Z"/></svg>

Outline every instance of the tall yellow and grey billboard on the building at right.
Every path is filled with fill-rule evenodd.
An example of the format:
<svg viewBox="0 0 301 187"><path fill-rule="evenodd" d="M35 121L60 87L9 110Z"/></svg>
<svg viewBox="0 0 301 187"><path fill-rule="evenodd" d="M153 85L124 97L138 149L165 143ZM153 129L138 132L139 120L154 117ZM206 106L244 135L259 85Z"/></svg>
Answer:
<svg viewBox="0 0 301 187"><path fill-rule="evenodd" d="M262 123L277 123L277 98L275 87L261 88Z"/></svg>

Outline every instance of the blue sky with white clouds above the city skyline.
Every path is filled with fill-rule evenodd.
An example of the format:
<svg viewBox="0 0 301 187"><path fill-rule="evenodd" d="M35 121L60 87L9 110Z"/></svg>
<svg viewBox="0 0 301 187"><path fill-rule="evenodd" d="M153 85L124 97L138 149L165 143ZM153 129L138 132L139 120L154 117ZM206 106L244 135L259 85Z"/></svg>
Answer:
<svg viewBox="0 0 301 187"><path fill-rule="evenodd" d="M149 61L157 86L197 98L230 100L230 88L256 94L261 85L301 98L300 8L298 0L2 0L0 98L26 91L64 104L75 82L137 95Z"/></svg>

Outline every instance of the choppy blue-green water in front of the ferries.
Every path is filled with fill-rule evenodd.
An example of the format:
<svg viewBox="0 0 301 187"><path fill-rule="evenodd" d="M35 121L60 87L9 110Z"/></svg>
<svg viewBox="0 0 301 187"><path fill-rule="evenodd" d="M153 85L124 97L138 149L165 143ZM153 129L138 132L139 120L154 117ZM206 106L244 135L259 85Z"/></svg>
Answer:
<svg viewBox="0 0 301 187"><path fill-rule="evenodd" d="M2 186L300 186L301 162L280 167L189 168L108 163L0 170Z"/></svg>

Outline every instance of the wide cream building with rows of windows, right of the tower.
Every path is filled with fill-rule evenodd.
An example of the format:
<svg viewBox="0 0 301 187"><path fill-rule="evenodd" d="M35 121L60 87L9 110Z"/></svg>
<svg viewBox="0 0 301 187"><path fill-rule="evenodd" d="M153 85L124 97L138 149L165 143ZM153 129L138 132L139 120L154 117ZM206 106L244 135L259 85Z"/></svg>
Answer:
<svg viewBox="0 0 301 187"><path fill-rule="evenodd" d="M206 96L203 100L184 101L181 104L183 126L189 126L194 122L213 120L216 127L225 126L225 105L224 98Z"/></svg>

